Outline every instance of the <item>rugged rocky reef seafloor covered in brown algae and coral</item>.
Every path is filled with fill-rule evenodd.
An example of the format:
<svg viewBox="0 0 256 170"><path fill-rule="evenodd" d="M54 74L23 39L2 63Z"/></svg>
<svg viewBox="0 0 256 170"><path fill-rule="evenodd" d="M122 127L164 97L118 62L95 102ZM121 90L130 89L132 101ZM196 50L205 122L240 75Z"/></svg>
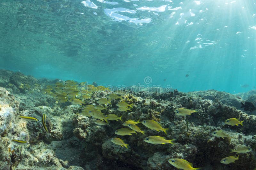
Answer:
<svg viewBox="0 0 256 170"><path fill-rule="evenodd" d="M164 132L150 130L137 124L141 133L128 136L114 134L122 128L121 121L111 121L110 126L94 124L94 118L82 116L83 105L56 103L56 99L44 93L47 85L61 80L37 80L20 72L0 70L0 169L177 169L168 163L170 158L185 159L193 167L207 170L253 170L256 167L256 116L255 111L244 111L241 102L256 104L256 91L232 95L216 90L183 93L132 92L123 96L133 103L132 111L118 111L113 100L105 114L114 113L122 120L155 120ZM109 93L109 92L108 92ZM95 91L86 104L106 97L105 91ZM199 109L198 113L177 116L177 108ZM42 128L42 116L47 115L50 134ZM28 122L19 116L35 117L39 121ZM228 118L244 120L244 125L224 124ZM216 130L224 130L228 138L212 136ZM153 145L143 141L147 136L175 139L175 144ZM110 138L122 138L129 149L116 145ZM12 139L28 141L17 145ZM246 145L252 152L240 153L235 163L222 164L231 149Z"/></svg>

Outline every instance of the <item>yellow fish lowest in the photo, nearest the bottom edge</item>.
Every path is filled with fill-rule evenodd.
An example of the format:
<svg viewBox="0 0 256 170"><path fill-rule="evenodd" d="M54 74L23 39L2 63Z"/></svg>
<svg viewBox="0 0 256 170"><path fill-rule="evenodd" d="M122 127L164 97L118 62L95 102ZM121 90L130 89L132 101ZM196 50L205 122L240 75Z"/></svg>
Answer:
<svg viewBox="0 0 256 170"><path fill-rule="evenodd" d="M183 170L197 170L197 169L201 169L201 168L193 168L193 164L188 162L185 159L178 159L178 158L172 158L169 159L168 162L178 168L178 169L183 169Z"/></svg>

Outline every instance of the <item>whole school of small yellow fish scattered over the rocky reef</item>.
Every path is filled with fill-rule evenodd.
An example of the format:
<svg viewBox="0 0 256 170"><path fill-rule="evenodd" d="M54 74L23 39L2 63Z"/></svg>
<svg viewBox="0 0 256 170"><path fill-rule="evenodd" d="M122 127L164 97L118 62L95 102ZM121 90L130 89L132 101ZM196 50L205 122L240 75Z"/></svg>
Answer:
<svg viewBox="0 0 256 170"><path fill-rule="evenodd" d="M87 101L86 99L90 99L94 92L100 92L100 91L107 92L108 93L107 97L98 98L95 100L96 102L93 104L85 104ZM118 103L116 104L117 106L116 110L120 112L132 111L132 108L133 108L133 103L129 104L123 100L123 95L125 94L125 91L117 90L115 92L111 92L109 88L106 88L104 86L95 87L94 85L87 84L87 82L82 82L80 84L71 80L68 80L65 82L56 82L55 86L48 85L44 89L44 92L54 97L56 99L56 103L70 102L72 105L74 104L82 105L81 106L82 110L79 113L83 116L93 117L97 119L94 122L97 125L110 126L109 121L119 121L119 120L122 121L122 116L118 117L116 114L105 115L104 113L101 112L102 110L108 110L107 106L112 104L111 103L112 100L118 100ZM175 114L178 116L191 115L192 113L196 113L196 112L198 112L198 109L190 110L185 108L179 108L175 110ZM37 121L37 119L33 117L25 117L25 116L20 116L20 117L29 121ZM42 117L42 125L43 125L44 131L48 134L49 132L46 126L45 117L46 115L44 114ZM238 124L241 124L243 126L243 122L244 121L239 121L236 118L230 118L230 119L227 119L224 123L231 126L234 126L234 125L238 126ZM159 124L154 120L142 120L142 121L127 120L122 123L122 125L125 126L125 128L117 129L114 133L120 136L132 135L132 134L137 135L138 132L144 134L145 131L142 131L140 127L137 125L140 123L151 130L155 130L158 132L163 131L167 135L166 131L168 130L168 128L163 128L161 124ZM214 131L212 135L220 138L229 138L228 134L222 130ZM26 144L26 141L22 141L19 139L12 139L12 141L18 144ZM124 141L121 138L111 138L110 141L116 145L120 145L128 149L129 144L124 143ZM167 143L174 144L173 143L174 139L168 140L161 136L148 136L144 138L143 141L150 144L154 144L154 145L167 144ZM241 147L237 147L231 152L246 153L250 151L252 151L252 148L248 146L241 146ZM238 160L238 157L239 155L237 157L228 156L226 158L221 159L220 162L223 164L234 163L236 160ZM200 169L200 168L194 168L192 163L184 159L172 158L172 159L169 159L168 162L172 166L178 169L183 169L183 170Z"/></svg>

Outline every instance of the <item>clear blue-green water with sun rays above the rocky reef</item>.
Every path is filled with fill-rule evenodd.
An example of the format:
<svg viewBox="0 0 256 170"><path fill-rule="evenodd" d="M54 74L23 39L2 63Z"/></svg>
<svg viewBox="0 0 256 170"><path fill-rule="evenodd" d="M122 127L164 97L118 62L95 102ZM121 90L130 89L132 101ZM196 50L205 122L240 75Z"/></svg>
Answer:
<svg viewBox="0 0 256 170"><path fill-rule="evenodd" d="M0 68L36 78L256 86L255 0L2 0L0 27Z"/></svg>

